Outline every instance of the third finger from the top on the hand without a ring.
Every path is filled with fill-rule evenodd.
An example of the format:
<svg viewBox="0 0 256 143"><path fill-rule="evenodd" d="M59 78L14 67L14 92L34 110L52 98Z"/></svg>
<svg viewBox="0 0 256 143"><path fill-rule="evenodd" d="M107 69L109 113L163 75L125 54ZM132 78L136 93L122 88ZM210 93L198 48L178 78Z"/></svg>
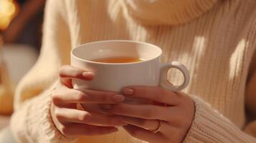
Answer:
<svg viewBox="0 0 256 143"><path fill-rule="evenodd" d="M56 108L54 114L59 122L75 122L100 126L124 126L120 119L114 116L85 112L79 109Z"/></svg>

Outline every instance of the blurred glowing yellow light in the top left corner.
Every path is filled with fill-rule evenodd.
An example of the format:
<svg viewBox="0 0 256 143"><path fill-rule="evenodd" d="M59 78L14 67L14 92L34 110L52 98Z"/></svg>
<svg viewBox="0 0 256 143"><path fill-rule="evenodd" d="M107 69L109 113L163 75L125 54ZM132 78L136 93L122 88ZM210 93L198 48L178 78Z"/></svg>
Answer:
<svg viewBox="0 0 256 143"><path fill-rule="evenodd" d="M6 29L18 13L18 5L13 0L0 0L0 30Z"/></svg>

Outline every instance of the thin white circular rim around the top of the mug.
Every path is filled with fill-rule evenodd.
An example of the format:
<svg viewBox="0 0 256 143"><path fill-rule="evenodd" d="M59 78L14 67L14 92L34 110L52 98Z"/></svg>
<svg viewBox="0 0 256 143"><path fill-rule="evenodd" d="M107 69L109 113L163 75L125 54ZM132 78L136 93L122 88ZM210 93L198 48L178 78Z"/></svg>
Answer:
<svg viewBox="0 0 256 143"><path fill-rule="evenodd" d="M115 41L120 41L120 42L131 42L131 43L138 43L138 44L147 44L148 46L154 46L156 47L157 49L160 50L160 53L158 55L156 55L156 57L152 58L152 59L148 59L148 60L143 60L143 61L137 61L137 62L128 62L128 63L103 63L103 62L98 62L98 61L90 61L88 59L82 59L80 57L77 57L75 56L75 54L73 53L75 51L75 49L77 48L80 48L81 46L86 46L88 44L96 44L96 43L105 43L105 42L115 42ZM76 46L74 49L72 49L70 51L70 54L72 56L72 58L75 58L75 59L79 59L81 61L85 61L87 63L92 63L92 64L109 64L109 65L128 65L128 64L142 64L142 63L145 63L145 62L149 62L149 61L152 61L154 59L157 59L159 56L161 56L161 54L163 53L162 49L159 47L159 46L156 46L154 44L150 44L150 43L147 43L147 42L144 42L144 41L133 41L133 40L101 40L101 41L90 41L90 42L87 42L85 44L80 44L79 46Z"/></svg>

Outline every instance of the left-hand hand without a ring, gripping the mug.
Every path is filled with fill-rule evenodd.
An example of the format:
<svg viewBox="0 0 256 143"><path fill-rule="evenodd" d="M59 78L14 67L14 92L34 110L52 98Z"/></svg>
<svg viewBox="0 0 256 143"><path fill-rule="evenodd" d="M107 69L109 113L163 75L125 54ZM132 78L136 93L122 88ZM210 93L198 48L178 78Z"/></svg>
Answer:
<svg viewBox="0 0 256 143"><path fill-rule="evenodd" d="M72 79L93 80L93 72L65 65L59 76L61 84L52 94L51 114L55 126L66 137L110 134L125 125L113 115L77 109L77 104L118 104L124 100L123 95L115 92L73 89Z"/></svg>

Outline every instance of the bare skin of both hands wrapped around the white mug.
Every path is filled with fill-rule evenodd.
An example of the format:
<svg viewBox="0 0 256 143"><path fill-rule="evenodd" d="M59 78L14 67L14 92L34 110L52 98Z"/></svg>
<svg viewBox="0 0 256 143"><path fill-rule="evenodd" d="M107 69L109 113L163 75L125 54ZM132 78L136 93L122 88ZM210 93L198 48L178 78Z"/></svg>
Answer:
<svg viewBox="0 0 256 143"><path fill-rule="evenodd" d="M194 119L194 101L183 92L171 92L161 87L132 86L121 94L72 89L71 79L93 80L95 75L86 69L62 66L60 86L52 94L52 119L66 137L100 135L123 128L131 136L146 142L182 142ZM128 104L125 97L143 99L144 103ZM101 111L76 108L76 103L98 104ZM152 130L158 127L158 132ZM100 125L99 125L100 124Z"/></svg>

